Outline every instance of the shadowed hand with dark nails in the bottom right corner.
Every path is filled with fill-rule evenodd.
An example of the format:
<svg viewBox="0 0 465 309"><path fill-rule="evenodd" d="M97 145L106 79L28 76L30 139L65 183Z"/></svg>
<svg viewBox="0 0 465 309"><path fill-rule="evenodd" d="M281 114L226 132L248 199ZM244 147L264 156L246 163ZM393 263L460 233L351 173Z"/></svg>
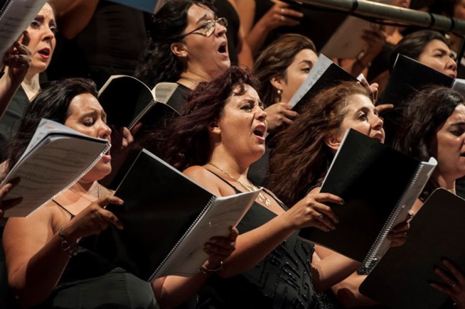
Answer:
<svg viewBox="0 0 465 309"><path fill-rule="evenodd" d="M435 267L435 273L444 281L439 283L431 281L429 285L436 290L449 295L455 302L454 308L465 308L465 276L463 272L449 259L443 259L442 264L446 267L444 271Z"/></svg>

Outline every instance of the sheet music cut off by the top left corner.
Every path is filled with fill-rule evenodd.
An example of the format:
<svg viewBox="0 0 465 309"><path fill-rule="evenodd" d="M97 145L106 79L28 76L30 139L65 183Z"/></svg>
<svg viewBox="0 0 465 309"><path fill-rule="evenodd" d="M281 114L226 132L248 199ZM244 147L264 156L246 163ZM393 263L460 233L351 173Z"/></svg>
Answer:
<svg viewBox="0 0 465 309"><path fill-rule="evenodd" d="M0 56L18 40L22 32L34 20L46 0L4 0L0 3Z"/></svg>

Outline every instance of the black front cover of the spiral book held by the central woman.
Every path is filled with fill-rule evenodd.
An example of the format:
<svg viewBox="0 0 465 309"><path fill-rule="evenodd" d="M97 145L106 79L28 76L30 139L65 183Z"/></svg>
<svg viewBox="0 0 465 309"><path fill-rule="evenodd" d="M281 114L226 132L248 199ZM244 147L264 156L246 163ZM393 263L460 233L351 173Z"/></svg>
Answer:
<svg viewBox="0 0 465 309"><path fill-rule="evenodd" d="M80 245L148 280L213 195L143 150L115 196L124 204L107 209L124 229L110 225Z"/></svg>

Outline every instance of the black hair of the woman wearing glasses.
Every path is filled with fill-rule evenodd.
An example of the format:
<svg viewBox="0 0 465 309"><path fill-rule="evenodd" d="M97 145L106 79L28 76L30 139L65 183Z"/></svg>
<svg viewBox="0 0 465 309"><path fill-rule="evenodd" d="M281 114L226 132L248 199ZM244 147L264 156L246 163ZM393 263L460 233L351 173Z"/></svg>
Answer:
<svg viewBox="0 0 465 309"><path fill-rule="evenodd" d="M161 81L175 82L185 64L171 51L171 44L182 41L188 24L187 11L192 5L206 6L216 13L214 0L170 0L152 16L150 36L139 59L135 76L153 88Z"/></svg>

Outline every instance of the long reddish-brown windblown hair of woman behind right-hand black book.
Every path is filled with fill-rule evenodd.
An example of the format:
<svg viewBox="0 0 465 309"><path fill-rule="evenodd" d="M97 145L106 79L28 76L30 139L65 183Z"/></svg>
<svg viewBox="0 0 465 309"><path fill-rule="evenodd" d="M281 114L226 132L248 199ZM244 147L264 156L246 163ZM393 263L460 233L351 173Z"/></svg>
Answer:
<svg viewBox="0 0 465 309"><path fill-rule="evenodd" d="M334 157L325 139L341 133L347 100L353 95L370 97L355 82L320 91L305 111L274 137L268 186L286 205L294 205L323 181Z"/></svg>

